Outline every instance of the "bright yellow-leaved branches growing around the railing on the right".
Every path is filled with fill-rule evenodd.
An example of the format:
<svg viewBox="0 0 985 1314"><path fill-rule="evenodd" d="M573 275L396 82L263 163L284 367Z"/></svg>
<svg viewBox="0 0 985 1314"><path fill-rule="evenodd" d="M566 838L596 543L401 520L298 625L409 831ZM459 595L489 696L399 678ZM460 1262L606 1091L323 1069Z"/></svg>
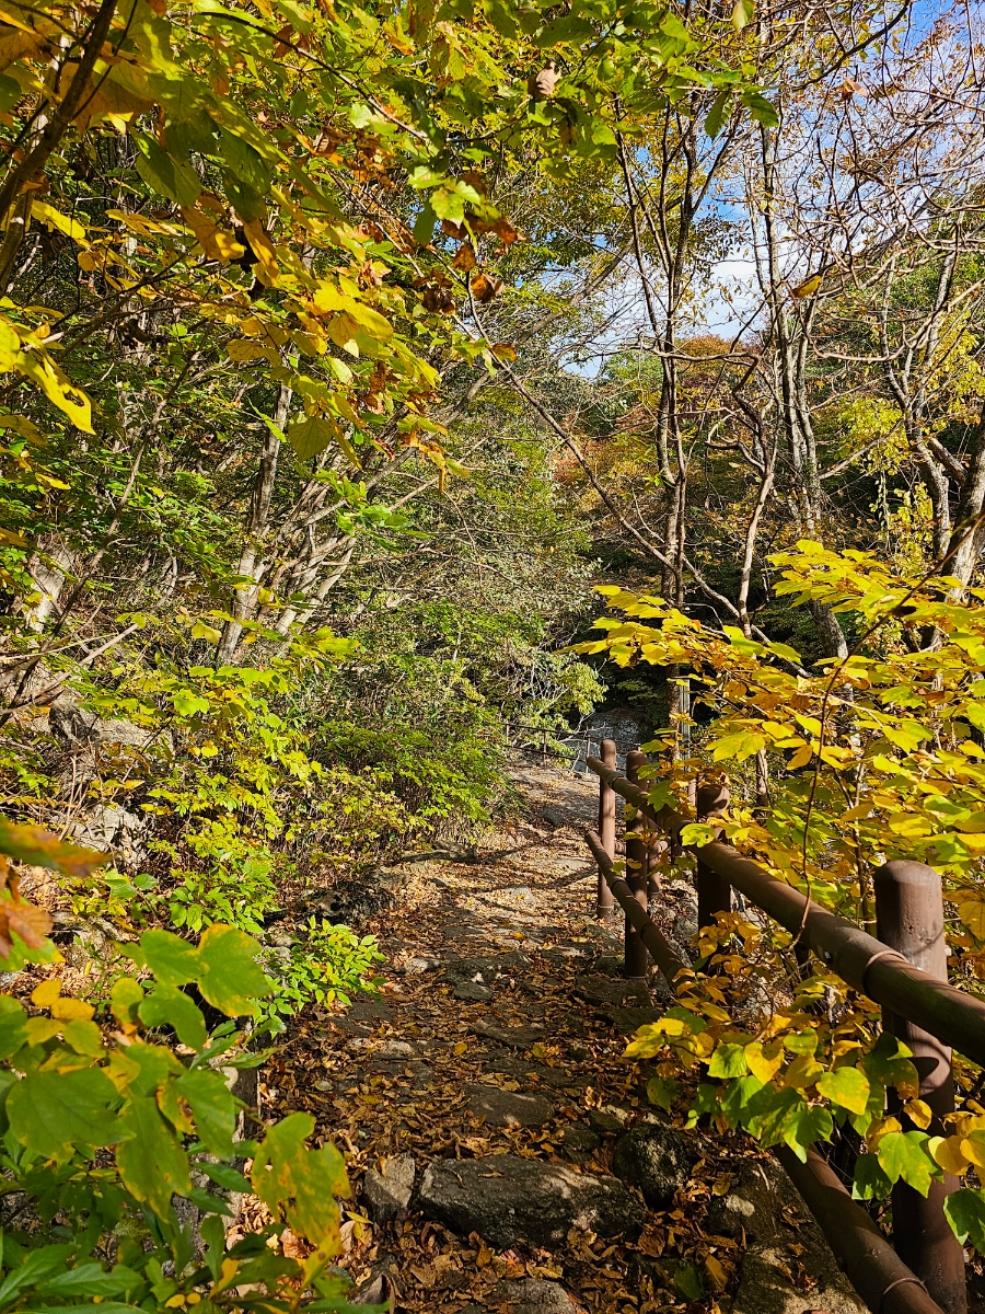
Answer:
<svg viewBox="0 0 985 1314"><path fill-rule="evenodd" d="M626 664L682 664L701 675L700 702L714 714L701 757L653 770L651 798L666 802L700 770L735 770L766 754L770 812L760 819L741 796L725 834L777 876L855 920L872 908L871 872L888 857L922 857L943 874L955 913L948 942L965 988L982 976L981 788L985 775L973 728L985 725L985 606L956 579L894 576L860 552L834 553L802 541L779 553L776 593L852 614L860 637L848 656L808 673L781 644L758 643L737 628L711 635L655 597L604 591L626 620L603 619L602 644ZM645 624L644 622L657 622ZM932 645L914 641L932 632ZM659 746L659 745L657 745ZM716 778L718 778L716 775ZM690 827L688 840L708 837ZM749 982L770 993L791 968L791 937L720 913L697 937L699 972L682 986L682 1005L644 1028L629 1056L676 1067L704 1066L716 1081L700 1087L691 1120L742 1126L763 1144L785 1143L804 1158L848 1121L865 1141L855 1194L885 1196L905 1181L926 1196L943 1172L964 1176L985 1164L978 1105L948 1116L946 1135L929 1135L931 1110L919 1100L911 1055L880 1031L877 1010L822 964L796 986L791 1001L763 1012ZM739 950L741 943L741 950ZM707 975L705 975L707 974ZM817 1000L825 996L823 1009ZM733 1012L743 1017L737 1033ZM893 1089L901 1114L886 1114ZM905 1120L905 1121L901 1121ZM906 1125L909 1123L909 1125ZM985 1196L965 1188L948 1217L964 1236L981 1235L976 1210Z"/></svg>

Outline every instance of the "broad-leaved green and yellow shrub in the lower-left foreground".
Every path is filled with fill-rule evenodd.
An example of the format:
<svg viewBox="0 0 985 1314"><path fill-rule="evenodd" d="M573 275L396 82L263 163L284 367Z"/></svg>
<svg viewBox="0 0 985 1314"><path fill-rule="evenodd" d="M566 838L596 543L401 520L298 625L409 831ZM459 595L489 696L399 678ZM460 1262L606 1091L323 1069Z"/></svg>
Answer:
<svg viewBox="0 0 985 1314"><path fill-rule="evenodd" d="M70 876L102 861L5 823L0 851ZM47 929L47 915L25 903L4 871L0 954L8 970L56 959ZM314 1130L306 1113L268 1127L261 1142L235 1141L242 1105L218 1063L263 1060L242 1053L243 1031L232 1021L255 1017L273 991L256 961L260 946L214 924L198 945L155 929L127 951L141 979L118 978L98 1012L63 996L55 978L34 989L33 1014L0 996L0 1171L4 1192L24 1201L24 1230L4 1236L0 1306L71 1309L100 1300L108 1314L193 1305L348 1310L348 1279L330 1267L339 1248L335 1197L349 1189L341 1155L306 1147ZM209 1033L188 986L230 1021ZM183 1056L164 1042L168 1034ZM261 1231L232 1246L223 1225L232 1213L229 1192L255 1193L271 1214ZM197 1210L201 1244L175 1197ZM311 1244L306 1259L268 1246L286 1227Z"/></svg>

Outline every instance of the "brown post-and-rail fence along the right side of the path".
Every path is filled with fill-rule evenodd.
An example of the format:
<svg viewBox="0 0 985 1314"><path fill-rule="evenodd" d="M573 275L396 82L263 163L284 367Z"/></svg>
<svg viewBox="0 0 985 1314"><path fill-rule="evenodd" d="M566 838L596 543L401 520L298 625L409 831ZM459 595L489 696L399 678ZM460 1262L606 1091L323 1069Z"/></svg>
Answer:
<svg viewBox="0 0 985 1314"><path fill-rule="evenodd" d="M714 924L732 907L738 890L762 912L813 950L852 989L883 1005L883 1025L913 1051L921 1099L930 1106L935 1130L953 1112L951 1049L985 1066L985 1003L947 982L947 946L940 878L921 862L888 862L875 878L877 937L829 912L764 867L743 858L721 838L700 848L680 845L680 833L695 820L714 823L728 807L721 786L696 791L696 817L650 805L637 781L644 753L626 756L626 775L615 769L616 745L602 745L588 758L599 777L599 832L587 834L599 869L596 911L605 917L613 900L625 915L625 974L646 975L651 958L674 991L684 968L674 946L647 913L654 888L655 845L691 851L696 858L699 926ZM616 869L616 795L634 809L626 820L625 876ZM661 838L654 838L659 836ZM856 1205L825 1160L808 1154L806 1164L781 1150L779 1158L814 1213L842 1267L875 1314L965 1314L964 1251L951 1231L943 1205L956 1180L935 1181L925 1198L898 1181L893 1187L890 1248L875 1223ZM904 1264L901 1256L906 1257ZM909 1267L908 1267L909 1265Z"/></svg>

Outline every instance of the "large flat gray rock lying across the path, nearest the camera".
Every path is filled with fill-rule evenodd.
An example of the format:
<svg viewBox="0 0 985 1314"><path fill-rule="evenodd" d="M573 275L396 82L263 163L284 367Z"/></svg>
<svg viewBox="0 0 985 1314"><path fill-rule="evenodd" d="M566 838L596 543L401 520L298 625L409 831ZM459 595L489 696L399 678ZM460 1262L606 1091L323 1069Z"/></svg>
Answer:
<svg viewBox="0 0 985 1314"><path fill-rule="evenodd" d="M571 1227L636 1238L646 1217L615 1177L517 1155L440 1159L424 1172L416 1204L426 1217L465 1236L477 1231L496 1250L520 1238L553 1246Z"/></svg>

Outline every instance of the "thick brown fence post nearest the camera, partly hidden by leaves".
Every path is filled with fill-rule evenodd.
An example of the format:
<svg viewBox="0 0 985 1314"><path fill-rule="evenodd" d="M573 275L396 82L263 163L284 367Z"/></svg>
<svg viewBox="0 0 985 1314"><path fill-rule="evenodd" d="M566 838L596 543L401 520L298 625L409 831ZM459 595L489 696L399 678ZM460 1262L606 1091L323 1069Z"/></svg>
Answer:
<svg viewBox="0 0 985 1314"><path fill-rule="evenodd" d="M879 938L936 980L947 980L947 943L940 876L922 862L886 862L879 869L876 926ZM883 1026L908 1045L919 1074L921 1099L930 1105L931 1135L942 1135L942 1118L955 1108L951 1050L929 1031L883 1009ZM897 1110L898 1112L898 1110ZM905 1116L901 1116L904 1123ZM950 1173L931 1183L926 1200L905 1181L893 1187L893 1247L947 1314L965 1314L968 1296L964 1251L944 1217L944 1198L957 1189Z"/></svg>

